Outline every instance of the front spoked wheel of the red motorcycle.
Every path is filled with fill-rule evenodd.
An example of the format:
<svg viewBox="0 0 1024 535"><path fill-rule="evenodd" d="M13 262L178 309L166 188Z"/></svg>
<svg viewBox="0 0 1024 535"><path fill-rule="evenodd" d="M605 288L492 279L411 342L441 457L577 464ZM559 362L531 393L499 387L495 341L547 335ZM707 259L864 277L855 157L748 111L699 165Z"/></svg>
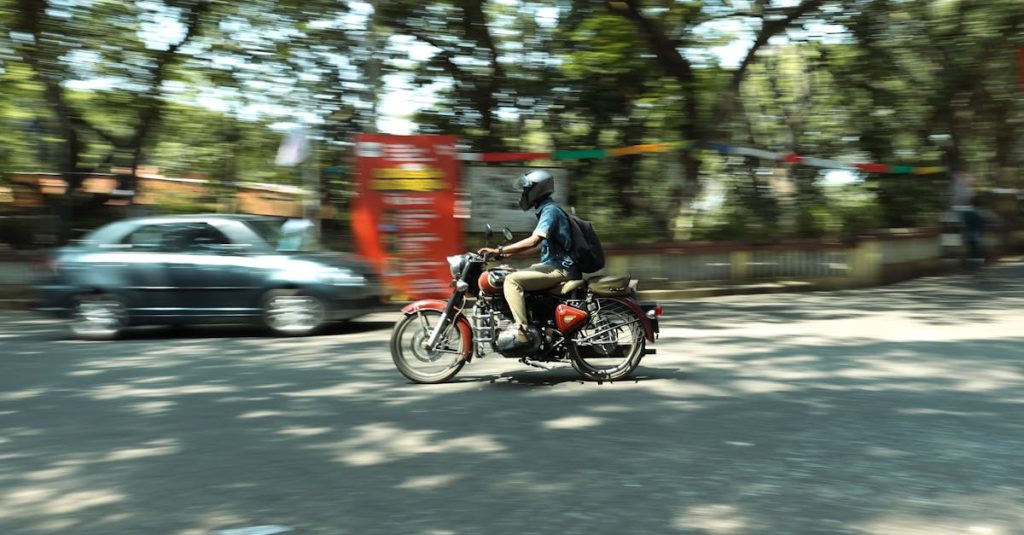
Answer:
<svg viewBox="0 0 1024 535"><path fill-rule="evenodd" d="M398 321L391 333L391 359L402 375L414 382L444 382L462 370L462 333L455 324L441 333L434 351L428 351L427 340L441 319L437 311L419 311Z"/></svg>

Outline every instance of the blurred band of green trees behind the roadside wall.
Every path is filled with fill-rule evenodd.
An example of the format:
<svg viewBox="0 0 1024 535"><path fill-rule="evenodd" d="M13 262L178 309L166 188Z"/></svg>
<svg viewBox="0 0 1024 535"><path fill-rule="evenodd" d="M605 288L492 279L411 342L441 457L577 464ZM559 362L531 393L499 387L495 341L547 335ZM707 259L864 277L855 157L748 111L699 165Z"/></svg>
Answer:
<svg viewBox="0 0 1024 535"><path fill-rule="evenodd" d="M299 183L272 164L274 123L315 125L319 161L349 167L352 135L391 112L381 95L401 81L432 91L408 118L418 130L470 151L697 139L1024 187L1019 0L377 5L0 4L12 30L0 33L0 175L138 164ZM719 56L736 38L756 53ZM935 224L947 204L944 175L836 187L817 169L699 153L561 165L572 203L612 243L851 240ZM349 178L332 177L333 197Z"/></svg>

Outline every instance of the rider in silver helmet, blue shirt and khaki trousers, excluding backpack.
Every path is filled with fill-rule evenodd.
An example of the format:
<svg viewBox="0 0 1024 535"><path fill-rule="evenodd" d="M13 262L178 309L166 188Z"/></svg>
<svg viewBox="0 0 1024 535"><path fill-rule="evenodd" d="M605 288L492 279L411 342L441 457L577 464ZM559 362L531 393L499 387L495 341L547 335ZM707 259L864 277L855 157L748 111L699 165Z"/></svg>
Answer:
<svg viewBox="0 0 1024 535"><path fill-rule="evenodd" d="M555 178L545 170L529 171L517 179L522 190L519 208L537 211L537 228L528 238L498 248L484 247L480 254L499 258L512 255L532 255L540 250L541 263L510 274L505 279L505 299L512 311L515 324L510 326L516 343L529 342L526 330L526 292L553 288L565 281L581 278L580 270L569 254L572 250L572 233L568 216L551 197L555 193Z"/></svg>

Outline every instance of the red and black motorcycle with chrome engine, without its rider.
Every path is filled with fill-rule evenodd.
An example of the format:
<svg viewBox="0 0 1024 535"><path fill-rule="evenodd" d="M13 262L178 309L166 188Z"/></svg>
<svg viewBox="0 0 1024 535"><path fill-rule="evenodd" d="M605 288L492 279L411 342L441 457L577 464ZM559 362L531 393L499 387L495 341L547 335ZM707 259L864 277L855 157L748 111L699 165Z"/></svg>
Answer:
<svg viewBox="0 0 1024 535"><path fill-rule="evenodd" d="M504 230L507 242L512 233ZM490 241L490 229L487 239ZM449 256L453 277L447 301L424 299L404 306L391 334L391 358L407 378L444 382L474 357L497 353L523 364L553 369L568 362L590 380L628 377L658 335L662 306L639 302L637 281L603 276L568 281L526 294L528 343L516 343L506 330L512 313L505 300L505 278L516 270L495 265L497 258L469 251ZM467 310L468 297L475 298Z"/></svg>

